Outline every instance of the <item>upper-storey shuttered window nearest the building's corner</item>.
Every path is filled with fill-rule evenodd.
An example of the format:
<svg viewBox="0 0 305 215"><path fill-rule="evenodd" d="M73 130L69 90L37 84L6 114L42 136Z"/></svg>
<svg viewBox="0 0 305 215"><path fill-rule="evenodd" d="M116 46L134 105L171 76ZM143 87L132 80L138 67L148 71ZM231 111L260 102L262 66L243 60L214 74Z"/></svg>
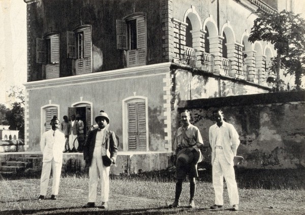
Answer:
<svg viewBox="0 0 305 215"><path fill-rule="evenodd" d="M116 20L117 49L126 51L127 67L146 65L146 17L136 13L123 20Z"/></svg>

